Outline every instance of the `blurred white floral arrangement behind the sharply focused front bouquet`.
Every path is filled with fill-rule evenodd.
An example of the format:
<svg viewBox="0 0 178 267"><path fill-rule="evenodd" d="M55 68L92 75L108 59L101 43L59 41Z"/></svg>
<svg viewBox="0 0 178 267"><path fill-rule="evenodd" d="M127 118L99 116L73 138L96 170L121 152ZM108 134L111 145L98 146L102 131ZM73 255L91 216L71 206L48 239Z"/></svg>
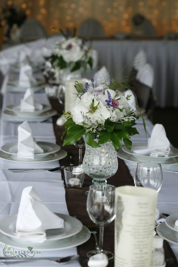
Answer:
<svg viewBox="0 0 178 267"><path fill-rule="evenodd" d="M61 41L55 42L55 47L50 61L54 67L59 69L69 68L74 72L81 67L86 69L87 64L92 67L92 57L90 46L82 39L75 36L75 29L71 33L69 30L63 34Z"/></svg>

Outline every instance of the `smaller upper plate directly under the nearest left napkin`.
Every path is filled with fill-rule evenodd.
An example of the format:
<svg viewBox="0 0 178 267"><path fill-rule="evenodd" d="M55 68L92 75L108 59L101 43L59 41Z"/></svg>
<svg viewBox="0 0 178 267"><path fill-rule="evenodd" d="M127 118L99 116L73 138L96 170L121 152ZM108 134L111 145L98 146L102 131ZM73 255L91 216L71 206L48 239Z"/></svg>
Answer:
<svg viewBox="0 0 178 267"><path fill-rule="evenodd" d="M46 230L47 240L45 240L45 242L74 236L82 230L83 225L76 218L59 213L57 213L57 215L64 220L64 228ZM17 215L3 218L0 221L0 232L6 236L19 240L19 236L15 233L16 222Z"/></svg>

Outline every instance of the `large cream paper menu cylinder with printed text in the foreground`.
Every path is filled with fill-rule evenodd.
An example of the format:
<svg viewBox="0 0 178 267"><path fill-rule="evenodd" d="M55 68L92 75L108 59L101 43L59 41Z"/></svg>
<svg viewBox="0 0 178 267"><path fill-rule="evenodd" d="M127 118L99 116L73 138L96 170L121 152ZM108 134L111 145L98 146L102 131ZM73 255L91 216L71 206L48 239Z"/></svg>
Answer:
<svg viewBox="0 0 178 267"><path fill-rule="evenodd" d="M144 187L115 190L115 267L150 267L157 192Z"/></svg>

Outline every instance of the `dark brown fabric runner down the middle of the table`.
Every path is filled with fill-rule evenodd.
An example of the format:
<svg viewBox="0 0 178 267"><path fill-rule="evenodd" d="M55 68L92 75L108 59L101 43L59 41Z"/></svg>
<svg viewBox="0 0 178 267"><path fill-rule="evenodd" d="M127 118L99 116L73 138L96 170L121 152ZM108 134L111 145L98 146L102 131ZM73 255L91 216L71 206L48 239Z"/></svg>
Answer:
<svg viewBox="0 0 178 267"><path fill-rule="evenodd" d="M59 104L57 100L51 100L51 104L55 110L62 111L62 106ZM62 146L62 140L61 135L64 130L64 127L59 127L56 125L56 119L57 117L54 117L53 119L53 126L54 126L54 132L56 137L56 142L60 146ZM68 155L72 156L72 160L74 161L74 165L78 165L78 148L75 146L65 146L64 149L68 152ZM84 151L83 149L83 155ZM60 164L64 166L69 166L70 158L66 157L64 159L60 160ZM64 179L64 175L62 172L62 178ZM71 216L76 215L76 218L79 219L83 225L87 226L88 222L90 222L90 218L88 216L87 210L86 210L86 200L87 197L85 196L85 191L88 190L89 186L92 184L92 178L85 175L85 181L80 189L74 189L74 188L67 188L65 186L66 190L66 203L67 208L69 211L69 214ZM117 173L107 179L108 184L112 184L115 187L123 186L123 185L132 185L134 186L134 181L129 173L129 170L127 166L125 165L124 161L118 158L118 170ZM97 231L99 233L99 229ZM109 250L114 253L114 222L111 222L108 226L104 227L104 246L103 248L105 250ZM82 267L88 266L87 262L88 259L86 257L86 253L90 250L95 249L95 241L93 235L91 238L84 244L77 247L78 254L81 257L80 264ZM169 246L169 243L164 241L164 249L165 249L165 257L166 257L166 266L170 267L177 267L177 259ZM129 253L129 251L128 251ZM109 261L109 267L114 266L114 260Z"/></svg>

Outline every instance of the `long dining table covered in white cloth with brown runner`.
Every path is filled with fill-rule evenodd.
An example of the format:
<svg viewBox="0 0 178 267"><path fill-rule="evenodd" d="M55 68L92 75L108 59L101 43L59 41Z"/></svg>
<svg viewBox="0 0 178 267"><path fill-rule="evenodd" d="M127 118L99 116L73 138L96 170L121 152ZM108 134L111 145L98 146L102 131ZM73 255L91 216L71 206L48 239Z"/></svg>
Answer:
<svg viewBox="0 0 178 267"><path fill-rule="evenodd" d="M23 94L21 93L12 93L8 91L8 86L4 81L4 101L3 101L3 110L8 104L19 103ZM45 92L41 91L35 93L35 99L37 101L43 102L44 104L49 103ZM62 106L58 103L57 100L51 101L53 108L61 111ZM61 132L62 127L56 125L57 117L52 120L45 122L30 122L29 125L32 129L34 137L36 140L43 140L48 142L57 141L58 144L62 144L61 141ZM6 118L4 114L1 116L1 146L5 143L17 141L18 133L17 128L20 123L18 121L10 121ZM149 120L146 119L147 125L147 137L150 136L152 130L152 124ZM146 135L144 133L143 125L141 120L138 121L138 131L140 132L139 136L134 136L132 138L133 142L145 142ZM78 164L78 150L74 146L64 147L68 153L73 154L74 164ZM84 151L83 151L84 152ZM70 158L66 157L60 160L60 165L69 166ZM108 179L109 184L113 184L116 187L122 185L133 185L133 175L136 165L131 162L124 162L121 159L118 159L119 167L117 173ZM126 164L125 164L126 163ZM33 168L53 168L58 166L58 162L49 162L48 164L33 164ZM63 173L46 173L45 171L35 171L32 173L10 173L8 168L28 168L29 164L15 164L13 162L7 162L3 159L0 160L0 219L6 217L7 215L13 215L18 213L18 207L20 203L21 193L24 187L33 185L38 191L40 197L42 198L43 203L50 208L53 212L70 214L71 216L76 216L83 225L87 226L90 219L86 211L86 196L84 192L88 190L88 187L91 184L91 178L85 178L84 185L81 189L72 189L64 187L63 182ZM31 165L30 165L31 166ZM174 168L176 168L175 166ZM129 172L130 171L130 172ZM174 213L177 211L177 187L178 180L177 174L163 173L163 186L159 192L158 196L158 208L160 212L164 213ZM94 249L95 243L94 238L91 236L89 241L72 249L63 249L58 251L44 251L39 253L38 248L35 244L34 249L37 256L65 256L72 255L78 252L81 257L80 264L82 266L87 266L86 252L90 249ZM165 251L166 251L166 260L167 266L178 266L177 260L172 252L174 251L176 257L178 257L178 246L172 245L171 248L169 244L165 242ZM4 245L0 245L0 256L3 255ZM114 252L114 222L110 223L105 227L104 230L104 249L108 249ZM38 253L37 253L38 252ZM129 252L128 252L129 253ZM8 265L7 265L8 266ZM13 265L12 265L13 266ZM14 265L17 266L17 265ZM36 264L34 263L20 263L18 266L56 266L56 264L50 263L48 261L41 261ZM78 267L78 262L72 262L67 264L66 267ZM109 266L114 266L114 261L109 262Z"/></svg>

